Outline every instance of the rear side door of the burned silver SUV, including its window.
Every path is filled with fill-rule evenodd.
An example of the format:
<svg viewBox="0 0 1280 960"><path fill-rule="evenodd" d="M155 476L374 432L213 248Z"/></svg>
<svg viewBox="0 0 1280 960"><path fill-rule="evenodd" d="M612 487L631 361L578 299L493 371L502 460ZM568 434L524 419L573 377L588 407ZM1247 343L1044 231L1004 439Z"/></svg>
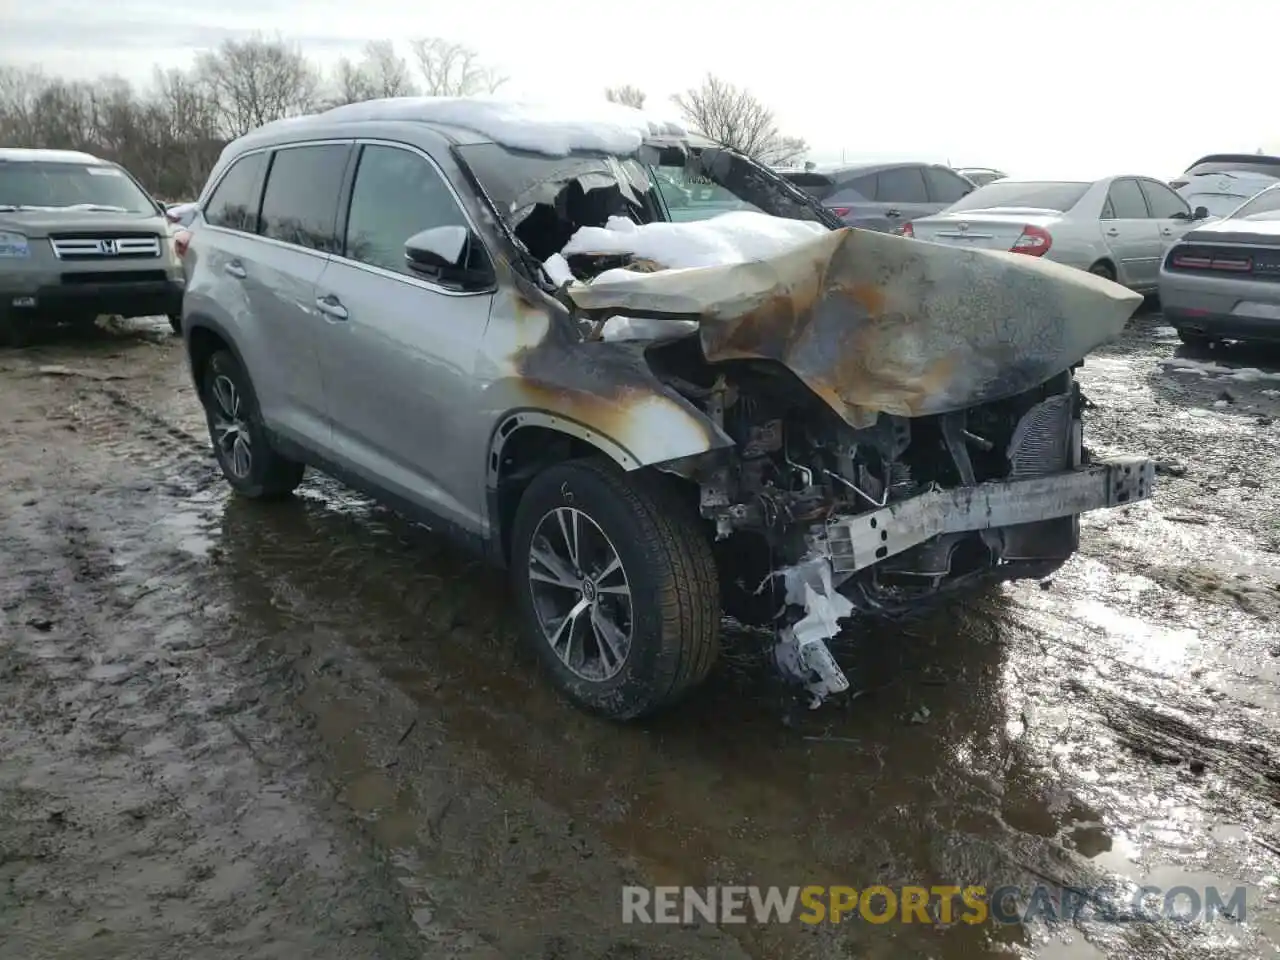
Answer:
<svg viewBox="0 0 1280 960"><path fill-rule="evenodd" d="M328 448L329 413L320 374L316 280L338 248L338 195L352 141L278 147L262 192L260 239L242 264L251 291L257 356L253 376L264 413L275 411L300 439Z"/></svg>

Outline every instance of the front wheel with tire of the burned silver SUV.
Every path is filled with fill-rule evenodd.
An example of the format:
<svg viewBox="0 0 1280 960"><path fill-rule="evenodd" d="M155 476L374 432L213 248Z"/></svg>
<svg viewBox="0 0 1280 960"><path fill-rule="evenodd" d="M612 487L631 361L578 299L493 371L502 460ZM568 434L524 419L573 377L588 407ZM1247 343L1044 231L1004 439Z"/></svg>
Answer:
<svg viewBox="0 0 1280 960"><path fill-rule="evenodd" d="M561 692L609 719L636 719L675 704L705 680L719 653L719 584L710 543L694 511L664 483L622 475L604 461L568 461L535 476L516 511L511 573L521 632ZM568 559L558 549L566 543L559 521L568 526L575 515L579 561L591 582L584 584L585 595L548 585L550 567L532 562L535 543L543 556L554 550ZM617 558L621 570L593 577L608 557ZM568 566L566 580L573 572ZM531 567L540 579L530 576ZM620 584L630 590L628 603L621 599ZM543 623L545 618L554 632L563 623L556 616L561 609L588 602L575 623L580 655L568 657L577 660L575 669L553 648ZM599 639L607 627L596 628L598 616L626 625L622 632L630 634L621 657L608 658L612 664Z"/></svg>

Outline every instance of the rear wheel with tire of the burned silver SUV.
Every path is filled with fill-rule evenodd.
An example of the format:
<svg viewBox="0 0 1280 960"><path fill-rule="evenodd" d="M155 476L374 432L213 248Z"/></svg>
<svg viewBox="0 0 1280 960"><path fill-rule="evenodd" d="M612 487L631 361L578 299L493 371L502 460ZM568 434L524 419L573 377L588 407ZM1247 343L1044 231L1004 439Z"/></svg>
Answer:
<svg viewBox="0 0 1280 960"><path fill-rule="evenodd" d="M200 399L218 466L237 493L265 500L288 497L297 489L306 465L271 449L253 385L229 351L216 351L209 358ZM241 445L239 440L246 443Z"/></svg>

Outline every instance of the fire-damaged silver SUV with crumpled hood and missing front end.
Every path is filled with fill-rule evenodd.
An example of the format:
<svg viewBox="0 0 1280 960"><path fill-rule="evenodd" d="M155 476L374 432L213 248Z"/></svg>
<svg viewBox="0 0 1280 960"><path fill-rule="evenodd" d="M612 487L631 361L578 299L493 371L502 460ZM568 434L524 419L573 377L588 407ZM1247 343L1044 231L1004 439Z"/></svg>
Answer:
<svg viewBox="0 0 1280 960"><path fill-rule="evenodd" d="M1088 457L1073 376L1138 294L842 228L626 108L269 124L189 229L183 332L232 486L311 466L475 547L608 717L698 685L723 613L822 699L847 618L1042 577L1082 512L1151 495L1151 461Z"/></svg>

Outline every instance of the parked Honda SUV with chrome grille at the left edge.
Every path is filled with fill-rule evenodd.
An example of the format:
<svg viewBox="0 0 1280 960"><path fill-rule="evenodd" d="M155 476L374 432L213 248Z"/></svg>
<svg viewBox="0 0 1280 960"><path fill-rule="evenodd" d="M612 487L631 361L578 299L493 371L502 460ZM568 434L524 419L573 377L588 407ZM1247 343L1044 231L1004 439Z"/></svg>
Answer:
<svg viewBox="0 0 1280 960"><path fill-rule="evenodd" d="M0 150L0 343L44 324L164 315L178 329L182 266L163 209L88 154Z"/></svg>

